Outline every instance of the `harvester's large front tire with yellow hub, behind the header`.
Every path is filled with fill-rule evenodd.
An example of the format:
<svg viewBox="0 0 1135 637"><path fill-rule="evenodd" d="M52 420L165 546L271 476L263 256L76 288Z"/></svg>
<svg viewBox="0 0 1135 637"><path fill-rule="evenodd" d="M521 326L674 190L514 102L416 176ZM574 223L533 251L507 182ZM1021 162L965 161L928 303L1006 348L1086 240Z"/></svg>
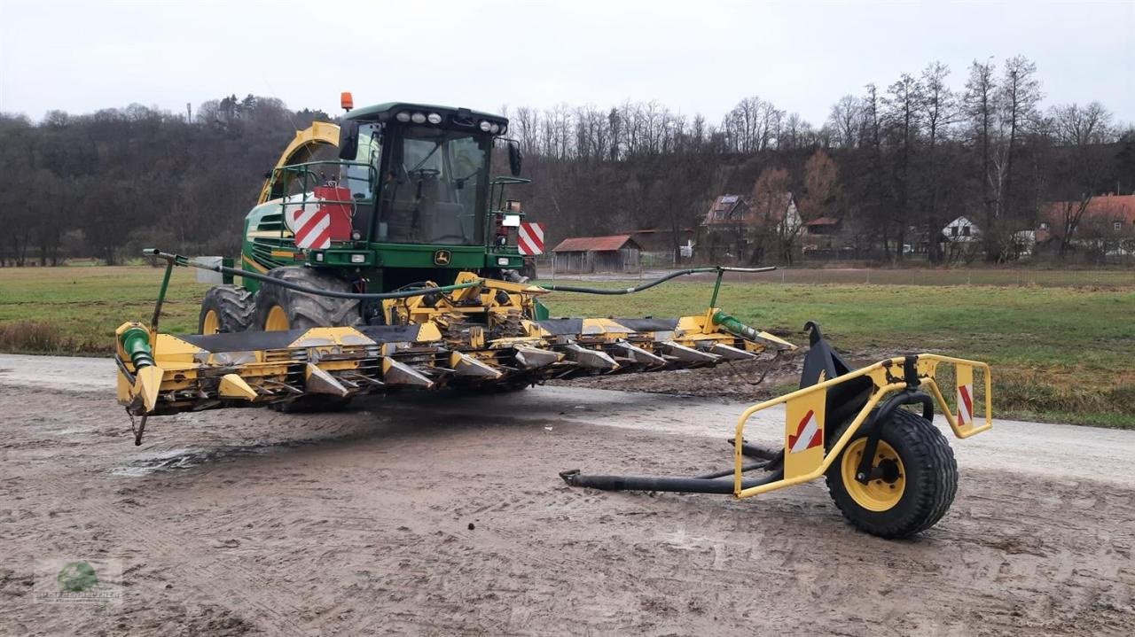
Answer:
<svg viewBox="0 0 1135 637"><path fill-rule="evenodd" d="M350 282L311 267L276 267L268 275L309 288L353 291ZM358 325L361 322L358 299L309 295L271 283L260 284L255 308L255 329L263 331Z"/></svg>

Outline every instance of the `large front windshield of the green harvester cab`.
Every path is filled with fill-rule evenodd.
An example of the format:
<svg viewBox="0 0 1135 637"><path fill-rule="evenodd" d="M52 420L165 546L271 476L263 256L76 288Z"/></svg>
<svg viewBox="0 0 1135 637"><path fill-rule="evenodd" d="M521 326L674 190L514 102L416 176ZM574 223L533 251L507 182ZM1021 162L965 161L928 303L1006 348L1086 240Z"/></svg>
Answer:
<svg viewBox="0 0 1135 637"><path fill-rule="evenodd" d="M487 151L488 141L469 133L404 129L382 184L377 239L482 245Z"/></svg>

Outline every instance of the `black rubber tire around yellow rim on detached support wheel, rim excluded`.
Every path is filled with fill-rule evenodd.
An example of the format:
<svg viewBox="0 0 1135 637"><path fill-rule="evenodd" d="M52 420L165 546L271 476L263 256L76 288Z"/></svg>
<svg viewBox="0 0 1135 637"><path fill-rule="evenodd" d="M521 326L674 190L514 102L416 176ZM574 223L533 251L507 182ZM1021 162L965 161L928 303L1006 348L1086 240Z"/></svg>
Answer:
<svg viewBox="0 0 1135 637"><path fill-rule="evenodd" d="M849 425L841 426L830 440L838 440ZM886 511L871 511L856 503L843 486L842 453L827 469L827 491L856 528L880 537L908 537L934 526L949 510L958 491L958 464L942 432L916 414L897 409L882 426L881 440L896 449L907 474L899 503ZM864 436L860 432L852 440Z"/></svg>

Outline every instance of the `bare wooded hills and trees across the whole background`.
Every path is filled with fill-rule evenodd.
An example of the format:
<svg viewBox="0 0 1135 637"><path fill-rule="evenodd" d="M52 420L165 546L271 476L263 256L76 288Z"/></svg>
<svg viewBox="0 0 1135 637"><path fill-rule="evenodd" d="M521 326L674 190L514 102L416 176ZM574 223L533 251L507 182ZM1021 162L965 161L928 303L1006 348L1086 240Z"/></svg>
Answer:
<svg viewBox="0 0 1135 637"><path fill-rule="evenodd" d="M462 105L461 96L451 103ZM1002 263L1022 256L1015 237L1051 215L1051 202L1063 202L1054 223L1070 230L1084 224L1093 198L1135 193L1130 122L1091 96L1045 103L1035 63L1015 57L958 74L932 62L866 84L836 100L823 122L757 95L721 121L655 101L498 111L511 119L522 176L532 179L513 196L546 224L552 245L662 229L674 231L676 250L679 231L696 229L718 195L791 193L805 221L839 219L857 258L940 264L958 255L927 238L958 216L982 229L967 258ZM234 255L266 171L313 120L335 117L251 94L185 113L132 104L52 111L39 121L0 114L0 195L8 202L0 266L115 264L149 246ZM798 257L796 230L775 220L737 231L749 250L733 255L738 261ZM1057 258L1104 256L1076 249L1071 236L1063 233ZM923 247L903 248L911 245Z"/></svg>

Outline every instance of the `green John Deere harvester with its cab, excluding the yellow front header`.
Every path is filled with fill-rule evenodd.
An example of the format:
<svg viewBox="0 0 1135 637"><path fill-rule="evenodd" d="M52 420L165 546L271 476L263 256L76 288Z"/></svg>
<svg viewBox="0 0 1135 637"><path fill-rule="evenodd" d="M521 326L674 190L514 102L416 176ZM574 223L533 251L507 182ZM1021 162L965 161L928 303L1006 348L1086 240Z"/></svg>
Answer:
<svg viewBox="0 0 1135 637"><path fill-rule="evenodd" d="M249 213L241 269L300 267L276 274L314 287L336 280L360 292L427 280L447 286L462 271L516 279L524 265L515 231L523 212L505 199L505 188L527 180L516 177L522 160L518 144L504 138L507 130L498 116L404 102L352 110L342 126L316 122L296 133ZM499 142L508 148L511 177L491 173ZM320 147L337 147L337 158L316 159ZM243 287L260 289L255 280ZM217 321L202 316L203 332L389 320L377 303L338 304L352 308L312 322L284 306L275 317L270 307L233 308L243 295L227 296L215 309Z"/></svg>

